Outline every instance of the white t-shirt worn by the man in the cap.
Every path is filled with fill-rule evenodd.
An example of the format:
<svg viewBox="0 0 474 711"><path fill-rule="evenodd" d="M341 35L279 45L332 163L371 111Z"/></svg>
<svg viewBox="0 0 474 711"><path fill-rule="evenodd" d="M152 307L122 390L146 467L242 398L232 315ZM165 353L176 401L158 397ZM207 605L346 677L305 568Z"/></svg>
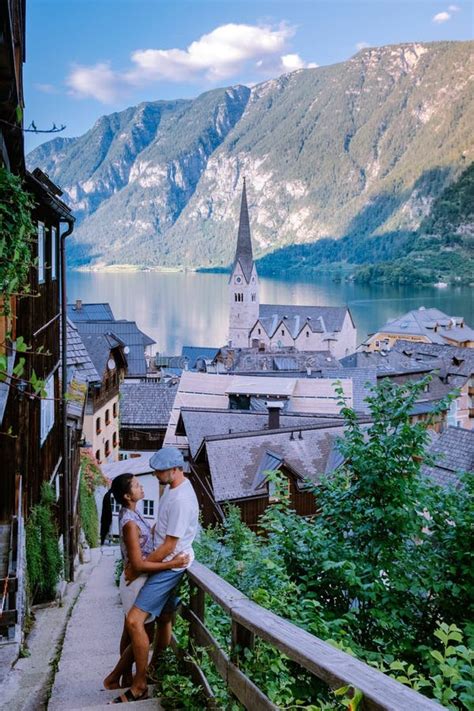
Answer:
<svg viewBox="0 0 474 711"><path fill-rule="evenodd" d="M189 568L194 560L192 544L199 527L199 504L191 482L185 479L182 484L171 489L165 488L158 504L158 520L156 522L156 546L160 546L166 536L179 538L176 548L165 561L171 560L178 553L188 553ZM173 568L184 570L184 568Z"/></svg>

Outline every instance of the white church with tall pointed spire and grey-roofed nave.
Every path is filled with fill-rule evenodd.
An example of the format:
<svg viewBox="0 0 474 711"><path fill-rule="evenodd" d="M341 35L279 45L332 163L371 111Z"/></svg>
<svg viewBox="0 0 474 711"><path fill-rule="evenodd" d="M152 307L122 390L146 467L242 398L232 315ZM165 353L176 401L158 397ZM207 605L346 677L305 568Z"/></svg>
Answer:
<svg viewBox="0 0 474 711"><path fill-rule="evenodd" d="M292 346L299 351L329 351L342 358L356 349L357 331L347 307L260 303L244 179L229 278L229 346L253 345L267 350Z"/></svg>

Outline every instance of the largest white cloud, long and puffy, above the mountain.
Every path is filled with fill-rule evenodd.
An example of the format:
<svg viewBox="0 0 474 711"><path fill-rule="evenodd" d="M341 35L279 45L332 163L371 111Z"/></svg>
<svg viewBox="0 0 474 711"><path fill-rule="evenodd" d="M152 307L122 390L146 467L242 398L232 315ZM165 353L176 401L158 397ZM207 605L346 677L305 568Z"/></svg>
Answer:
<svg viewBox="0 0 474 711"><path fill-rule="evenodd" d="M186 49L138 49L131 67L117 71L108 63L75 66L67 78L71 92L112 103L132 88L156 81L219 82L241 73L248 65L268 74L305 66L297 54L282 54L294 35L286 24L277 27L230 23L216 27Z"/></svg>

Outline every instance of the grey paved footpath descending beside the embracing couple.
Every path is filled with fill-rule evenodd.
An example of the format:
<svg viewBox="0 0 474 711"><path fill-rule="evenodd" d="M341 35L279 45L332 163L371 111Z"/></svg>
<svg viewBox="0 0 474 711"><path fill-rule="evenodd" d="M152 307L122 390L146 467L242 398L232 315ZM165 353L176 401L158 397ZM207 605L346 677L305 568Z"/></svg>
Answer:
<svg viewBox="0 0 474 711"><path fill-rule="evenodd" d="M48 704L49 711L109 709L117 691L102 681L118 657L123 612L114 567L118 549L95 550L97 564L72 610ZM120 693L120 692L118 692ZM161 710L157 699L133 703L137 711Z"/></svg>

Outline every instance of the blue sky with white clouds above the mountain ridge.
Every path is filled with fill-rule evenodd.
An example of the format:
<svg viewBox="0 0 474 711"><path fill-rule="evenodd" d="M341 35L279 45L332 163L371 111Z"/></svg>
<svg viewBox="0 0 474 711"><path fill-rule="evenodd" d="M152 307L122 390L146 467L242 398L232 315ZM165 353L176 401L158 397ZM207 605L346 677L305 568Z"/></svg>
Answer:
<svg viewBox="0 0 474 711"><path fill-rule="evenodd" d="M29 0L26 126L87 131L140 101L188 98L363 46L467 40L472 0ZM27 150L50 136L27 136Z"/></svg>

